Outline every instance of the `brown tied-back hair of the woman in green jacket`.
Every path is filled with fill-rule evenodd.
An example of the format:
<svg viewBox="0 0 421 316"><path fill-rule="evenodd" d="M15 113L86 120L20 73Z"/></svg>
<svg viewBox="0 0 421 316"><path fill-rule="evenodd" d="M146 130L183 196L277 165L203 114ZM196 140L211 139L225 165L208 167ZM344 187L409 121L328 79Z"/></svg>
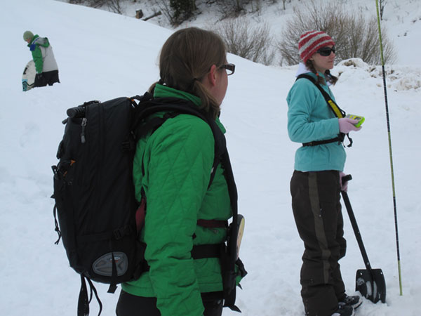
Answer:
<svg viewBox="0 0 421 316"><path fill-rule="evenodd" d="M220 104L200 81L212 65L220 67L226 60L225 43L218 34L197 27L179 29L161 48L161 79L152 84L149 92L159 83L192 93L201 99L201 108L215 118L220 114Z"/></svg>

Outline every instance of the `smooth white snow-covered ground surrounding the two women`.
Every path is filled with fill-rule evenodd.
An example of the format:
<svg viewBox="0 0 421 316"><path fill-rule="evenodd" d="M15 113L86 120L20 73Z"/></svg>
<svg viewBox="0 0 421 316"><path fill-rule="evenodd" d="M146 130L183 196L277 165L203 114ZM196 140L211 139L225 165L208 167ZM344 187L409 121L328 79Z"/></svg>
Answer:
<svg viewBox="0 0 421 316"><path fill-rule="evenodd" d="M362 4L363 1L356 1ZM375 1L372 1L375 4ZM349 198L373 268L385 273L387 302L364 301L361 316L417 316L421 298L420 1L388 1L385 13L399 60L387 65L387 93L394 157L403 296L399 295L392 181L381 67L361 60L333 72L339 105L366 117L352 134L345 171L352 173ZM296 2L298 3L298 2ZM364 2L365 3L365 2ZM366 6L373 10L373 4ZM273 13L275 14L275 13ZM189 25L192 25L190 22ZM53 173L68 107L143 93L159 79L157 56L170 29L151 22L52 0L0 4L4 49L0 77L0 296L1 315L75 315L79 277L65 251L55 246ZM31 58L25 30L48 37L60 67L61 84L23 93L20 79ZM406 33L406 36L403 34ZM290 208L294 152L286 133L286 94L296 66L265 67L234 55L222 123L246 217L241 258L248 270L238 305L244 316L301 316L302 242ZM345 217L347 256L342 274L354 294L357 269L364 268ZM98 286L103 315L114 315L118 295ZM98 311L91 305L92 315ZM237 315L225 310L224 315Z"/></svg>

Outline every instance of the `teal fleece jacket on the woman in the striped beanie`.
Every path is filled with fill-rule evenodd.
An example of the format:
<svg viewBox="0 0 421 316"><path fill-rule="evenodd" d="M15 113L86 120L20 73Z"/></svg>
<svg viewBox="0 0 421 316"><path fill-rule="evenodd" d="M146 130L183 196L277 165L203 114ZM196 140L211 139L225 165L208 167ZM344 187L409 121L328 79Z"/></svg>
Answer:
<svg viewBox="0 0 421 316"><path fill-rule="evenodd" d="M311 76L316 75L309 72ZM323 77L323 74L319 72ZM324 78L324 77L323 77ZM326 84L321 85L335 100ZM339 121L318 88L308 79L295 81L286 98L288 103L288 136L297 143L335 138ZM342 143L300 147L295 152L294 169L298 171L343 171L346 154Z"/></svg>

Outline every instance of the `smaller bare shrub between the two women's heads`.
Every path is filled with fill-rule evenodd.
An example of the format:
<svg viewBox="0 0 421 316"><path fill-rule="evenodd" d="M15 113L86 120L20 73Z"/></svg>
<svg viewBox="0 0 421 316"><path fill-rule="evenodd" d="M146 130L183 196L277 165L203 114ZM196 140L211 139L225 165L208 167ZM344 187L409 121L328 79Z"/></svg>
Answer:
<svg viewBox="0 0 421 316"><path fill-rule="evenodd" d="M231 18L222 20L212 30L224 39L229 53L264 65L272 64L275 54L267 23L253 27L246 18Z"/></svg>

